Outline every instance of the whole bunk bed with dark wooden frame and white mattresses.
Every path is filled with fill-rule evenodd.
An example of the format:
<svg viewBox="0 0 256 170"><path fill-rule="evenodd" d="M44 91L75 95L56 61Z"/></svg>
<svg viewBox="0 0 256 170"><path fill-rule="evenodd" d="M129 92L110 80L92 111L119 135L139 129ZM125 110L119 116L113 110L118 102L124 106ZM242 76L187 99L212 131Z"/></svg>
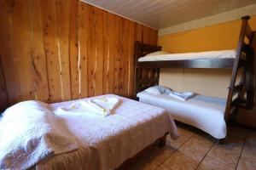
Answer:
<svg viewBox="0 0 256 170"><path fill-rule="evenodd" d="M190 117L189 115L193 115L193 111L189 109L186 114L184 109L181 110L172 110L173 107L185 108L189 105L189 102L193 103L193 101L189 102L170 102L168 101L166 96L161 96L158 98L157 95L146 94L143 95L143 90L155 85L159 84L160 78L160 68L190 68L190 69L231 69L232 76L230 78L230 86L228 88L229 93L227 99L224 101L214 98L204 98L200 97L202 102L203 99L207 100L209 105L205 105L205 103L200 103L198 101L194 102L197 103L196 107L200 108L200 105L204 105L208 109L208 112L211 110L215 110L218 107L217 112L220 115L220 119L224 120L224 125L220 127L220 129L224 132L227 131L227 126L230 122L234 122L236 120L236 115L238 108L245 108L250 110L253 108L254 104L254 57L255 54L253 51L253 36L255 31L252 31L250 26L248 25L248 20L250 19L249 16L244 16L241 18L241 31L240 36L237 44L237 48L235 51L218 51L218 52L206 52L206 53L198 53L198 54L191 54L192 57L188 57L189 54L170 54L170 55L162 55L155 56L155 57L144 57L146 54L150 54L156 51L160 51L161 47L143 44L141 42L135 42L135 81L134 81L134 94L137 95L140 101L144 103L148 103L149 105L157 105L160 106L171 114L175 111L182 111L180 116L185 116L183 119L179 119L177 116L173 116L174 119L177 121L180 120L188 120ZM255 48L255 47L254 47ZM217 53L217 54L216 54ZM212 55L212 57L211 57ZM216 57L218 55L218 57ZM145 71L149 71L149 73L145 73ZM239 83L236 83L236 79L238 71L241 71L241 78ZM146 96L146 97L145 97ZM144 99L143 99L144 97ZM175 99L174 99L175 100ZM193 99L192 99L193 100ZM195 98L196 100L196 98ZM211 101L213 102L211 104ZM166 104L164 104L166 102ZM215 102L215 103L214 103ZM176 105L175 105L176 104ZM213 105L213 106L212 106ZM196 110L198 111L198 110ZM203 110L202 114L206 114L207 110ZM194 111L195 113L195 111ZM219 114L220 113L220 114ZM201 130L209 133L210 130L206 129L205 127L201 127L198 124L202 124L204 122L204 118L208 116L208 121L211 122L211 115L198 117L200 115L194 116L189 121L182 121L184 123L188 123L192 126L198 127ZM216 114L215 114L216 116ZM201 122L198 122L198 120ZM191 123L192 122L192 123ZM204 123L206 124L206 122ZM223 123L222 123L223 124ZM214 128L214 126L218 126L218 123L212 124L212 127L207 128ZM221 135L216 135L210 133L213 137L217 139L225 139L226 133L222 133Z"/></svg>

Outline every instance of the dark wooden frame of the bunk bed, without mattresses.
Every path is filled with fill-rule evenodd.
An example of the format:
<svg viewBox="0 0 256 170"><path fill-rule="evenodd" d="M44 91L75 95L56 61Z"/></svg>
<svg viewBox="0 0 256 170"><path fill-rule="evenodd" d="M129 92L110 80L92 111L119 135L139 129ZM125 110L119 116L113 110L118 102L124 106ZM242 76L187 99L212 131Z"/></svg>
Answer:
<svg viewBox="0 0 256 170"><path fill-rule="evenodd" d="M140 57L155 51L161 47L135 42L135 84L134 94L143 89L158 85L160 68L195 68L195 69L232 69L229 94L227 98L224 119L226 122L235 122L238 108L253 109L254 95L254 57L252 31L248 25L249 16L241 18L241 31L236 48L235 59L187 59L187 60L165 60L165 61L143 61L138 62ZM145 69L154 69L154 72L146 77ZM241 69L241 80L236 85L238 70ZM245 95L246 94L246 95ZM135 97L136 98L136 97Z"/></svg>

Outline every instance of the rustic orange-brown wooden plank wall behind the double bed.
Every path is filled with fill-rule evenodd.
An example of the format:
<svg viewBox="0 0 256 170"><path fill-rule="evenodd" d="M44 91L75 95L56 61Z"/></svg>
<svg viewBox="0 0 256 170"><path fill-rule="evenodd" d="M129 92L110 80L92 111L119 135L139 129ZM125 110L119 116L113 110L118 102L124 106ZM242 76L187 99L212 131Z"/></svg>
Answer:
<svg viewBox="0 0 256 170"><path fill-rule="evenodd" d="M79 0L0 1L0 109L100 94L133 95L136 40L157 31Z"/></svg>

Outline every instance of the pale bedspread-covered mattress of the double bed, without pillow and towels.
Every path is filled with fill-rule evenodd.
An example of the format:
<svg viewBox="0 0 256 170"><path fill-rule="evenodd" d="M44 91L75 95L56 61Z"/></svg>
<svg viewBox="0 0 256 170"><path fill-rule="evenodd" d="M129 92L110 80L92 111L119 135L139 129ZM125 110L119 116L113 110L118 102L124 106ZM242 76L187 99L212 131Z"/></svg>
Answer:
<svg viewBox="0 0 256 170"><path fill-rule="evenodd" d="M177 138L176 125L164 109L107 96L122 100L111 116L58 114L81 148L40 162L36 169L115 169L166 132ZM51 104L49 110L55 112L76 101Z"/></svg>

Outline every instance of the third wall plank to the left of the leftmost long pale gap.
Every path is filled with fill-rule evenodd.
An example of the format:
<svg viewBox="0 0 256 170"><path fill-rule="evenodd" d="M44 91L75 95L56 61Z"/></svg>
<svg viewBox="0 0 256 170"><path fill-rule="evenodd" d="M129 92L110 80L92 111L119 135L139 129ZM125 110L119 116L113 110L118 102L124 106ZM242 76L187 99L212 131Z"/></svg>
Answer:
<svg viewBox="0 0 256 170"><path fill-rule="evenodd" d="M30 56L29 14L26 1L12 3L12 47L14 50L15 77L19 77L20 99L35 99L32 63Z"/></svg>

